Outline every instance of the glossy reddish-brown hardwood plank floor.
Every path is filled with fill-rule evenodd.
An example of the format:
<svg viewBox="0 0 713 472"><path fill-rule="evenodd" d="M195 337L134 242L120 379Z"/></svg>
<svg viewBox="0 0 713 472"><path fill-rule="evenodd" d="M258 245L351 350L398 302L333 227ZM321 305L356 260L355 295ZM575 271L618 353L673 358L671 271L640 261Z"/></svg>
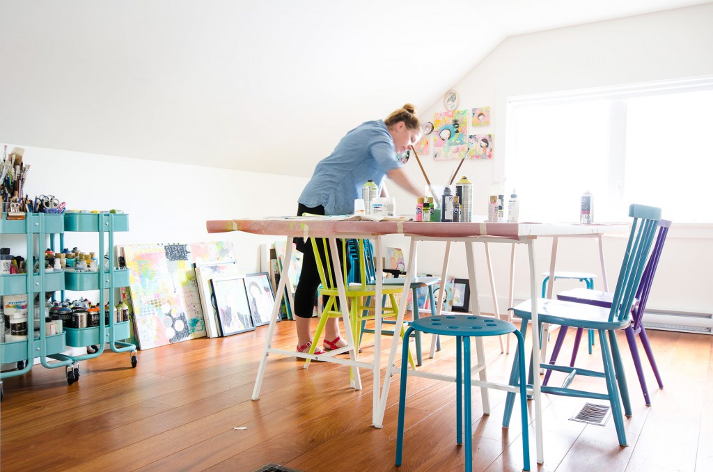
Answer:
<svg viewBox="0 0 713 472"><path fill-rule="evenodd" d="M649 334L665 383L657 389L647 369L650 407L644 405L625 339L619 343L634 409L625 419L630 445L618 446L611 420L603 427L568 421L583 400L545 395L545 463L538 470L713 469L713 337ZM462 470L453 384L409 378L404 465L396 468L398 376L392 379L383 429L371 426L371 376L363 373L364 388L354 391L348 388L348 369L337 364L312 363L304 370L292 357L274 356L260 401L251 401L265 336L267 327L260 327L225 339L140 351L136 369L128 354L108 352L82 361L73 385L66 383L64 369L42 366L5 379L0 466L4 472L254 471L274 462L310 472ZM366 335L362 357L374 354L371 342ZM292 322L277 325L273 344L294 346ZM386 359L390 343L383 344ZM454 371L455 344L442 344L435 359L426 354L420 369ZM501 354L497 339L486 339L486 356L489 378L505 379L513 355ZM598 369L598 344L592 356L582 347L578 360ZM553 383L560 378L553 374ZM491 391L492 413L481 416L481 396L474 390L475 471L522 467L517 410L511 427L501 427L504 398ZM238 426L247 429L235 430ZM534 465L534 442L530 450Z"/></svg>

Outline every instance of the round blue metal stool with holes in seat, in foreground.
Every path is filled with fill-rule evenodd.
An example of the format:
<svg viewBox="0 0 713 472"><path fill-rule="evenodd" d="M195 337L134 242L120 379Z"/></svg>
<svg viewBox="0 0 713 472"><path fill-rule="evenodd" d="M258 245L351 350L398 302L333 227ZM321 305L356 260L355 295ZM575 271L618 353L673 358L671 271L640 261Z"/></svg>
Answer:
<svg viewBox="0 0 713 472"><path fill-rule="evenodd" d="M515 365L518 366L520 379L517 384L513 376L511 385L518 385L520 392L520 412L523 427L523 470L530 470L530 440L528 434L527 394L525 389L525 342L522 334L514 324L491 317L476 315L447 315L440 317L425 317L411 323L404 334L404 347L401 356L401 391L399 392L399 427L396 433L396 466L401 466L404 453L404 416L406 414L406 379L409 376L408 363L404 359L409 356L409 336L412 332L439 334L456 337L456 443L463 443L463 423L466 433L466 471L473 468L473 431L471 421L471 337L502 336L514 333L518 339L518 349L515 354ZM479 340L478 340L479 341ZM434 374L410 371L412 375L428 376ZM453 377L443 377L443 380L453 380ZM481 388L486 388L481 386ZM463 389L465 398L463 398ZM463 404L465 418L463 418Z"/></svg>

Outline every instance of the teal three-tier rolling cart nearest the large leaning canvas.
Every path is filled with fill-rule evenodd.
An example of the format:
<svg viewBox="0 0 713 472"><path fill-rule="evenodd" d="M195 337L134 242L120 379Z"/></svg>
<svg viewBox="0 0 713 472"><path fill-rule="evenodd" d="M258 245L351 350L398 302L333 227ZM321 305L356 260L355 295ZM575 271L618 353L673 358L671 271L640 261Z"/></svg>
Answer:
<svg viewBox="0 0 713 472"><path fill-rule="evenodd" d="M108 343L113 352L129 352L131 366L138 364L138 354L134 344L123 342L130 337L128 321L118 322L113 311L116 305L116 289L128 287L129 273L127 269L117 269L113 263L114 232L128 231L128 215L114 213L67 213L64 215L64 231L60 233L59 245L65 247L64 237L68 232L96 232L98 235L99 263L96 272L64 273L64 290L99 291L99 326L87 328L66 328L66 344L71 347L86 347L87 354L71 356L73 368L67 381L72 384L79 379L79 361L101 356L104 346ZM52 241L53 242L53 241ZM51 247L53 249L53 247ZM109 264L105 267L103 255L108 254ZM62 299L64 299L64 290ZM108 300L106 292L108 291ZM109 319L105 324L103 307L109 302Z"/></svg>

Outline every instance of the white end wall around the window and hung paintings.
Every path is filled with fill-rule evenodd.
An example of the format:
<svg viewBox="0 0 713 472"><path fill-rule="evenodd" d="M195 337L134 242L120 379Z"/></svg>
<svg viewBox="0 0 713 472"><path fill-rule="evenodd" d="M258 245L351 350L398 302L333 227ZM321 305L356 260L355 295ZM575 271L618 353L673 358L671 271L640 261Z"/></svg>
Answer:
<svg viewBox="0 0 713 472"><path fill-rule="evenodd" d="M493 124L490 128L482 128L482 131L494 133L493 161L468 161L460 171L474 184L474 212L486 213L488 188L495 178L504 175L508 96L713 75L712 24L713 5L707 4L513 36L503 41L473 71L453 84L461 95L459 108L492 107ZM439 111L443 111L442 103L420 111L419 115L421 120L428 121L433 120L434 113ZM556 130L553 132L556 133ZM432 183L444 183L457 164L456 161L436 162L432 155L424 156L422 163ZM409 163L409 168L414 177L420 178L415 163ZM411 197L399 190L392 193L399 198L401 208L411 206ZM689 204L707 205L707 202ZM573 215L569 220L575 221L575 217ZM649 307L710 313L713 310L713 292L707 285L713 277L713 245L707 237L688 237L689 232L682 231L686 229L683 226L674 222L652 288ZM391 239L391 244L408 248L406 242L399 239ZM591 241L570 239L560 242L558 267L600 273L597 257L594 253L590 254L590 250L595 250ZM540 242L537 254L540 272L548 270L549 251L549 242ZM617 276L622 251L620 238L606 239L610 280L615 280ZM508 288L508 252L505 247L493 248L493 252L496 287L502 297ZM526 257L524 252L518 252L520 263L515 296L520 298L529 295ZM451 257L449 272L458 277L466 275L464 259L464 252L458 247ZM437 252L421 250L419 260L419 269L440 273L441 260ZM481 292L489 292L486 272L481 270L478 276ZM570 286L563 281L558 282L556 288ZM488 294L481 299L485 299L486 306L489 305Z"/></svg>

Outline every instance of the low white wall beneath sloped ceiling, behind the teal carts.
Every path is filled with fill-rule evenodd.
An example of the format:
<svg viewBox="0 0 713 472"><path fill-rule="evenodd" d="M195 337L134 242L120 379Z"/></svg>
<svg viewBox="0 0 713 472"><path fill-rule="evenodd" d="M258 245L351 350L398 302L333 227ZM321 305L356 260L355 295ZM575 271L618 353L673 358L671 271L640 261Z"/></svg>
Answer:
<svg viewBox="0 0 713 472"><path fill-rule="evenodd" d="M31 165L25 193L56 195L68 209L116 208L128 213L129 231L116 233L115 245L230 241L238 265L247 273L259 272L259 245L275 238L241 232L208 234L206 220L294 215L307 182L285 175L201 167L200 156L196 165L184 165L19 146L25 149L24 163ZM270 170L270 163L265 163L265 170ZM3 235L2 244L10 244L11 238ZM98 249L95 235L66 234L65 243Z"/></svg>

